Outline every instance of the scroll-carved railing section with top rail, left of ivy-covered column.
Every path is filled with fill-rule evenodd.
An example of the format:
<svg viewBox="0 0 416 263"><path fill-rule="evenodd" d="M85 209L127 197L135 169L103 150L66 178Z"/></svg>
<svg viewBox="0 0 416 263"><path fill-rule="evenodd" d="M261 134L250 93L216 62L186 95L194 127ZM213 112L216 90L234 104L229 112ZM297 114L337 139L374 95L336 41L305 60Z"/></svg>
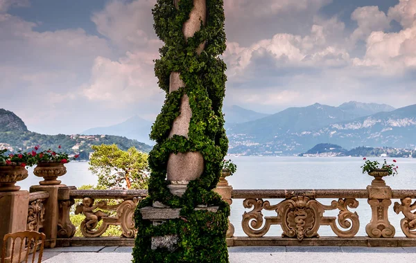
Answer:
<svg viewBox="0 0 416 263"><path fill-rule="evenodd" d="M121 227L122 237L132 238L137 233L133 219L135 208L146 195L146 190L71 190L69 197L81 199L75 213L85 215L80 224L84 237L100 237L113 225Z"/></svg>

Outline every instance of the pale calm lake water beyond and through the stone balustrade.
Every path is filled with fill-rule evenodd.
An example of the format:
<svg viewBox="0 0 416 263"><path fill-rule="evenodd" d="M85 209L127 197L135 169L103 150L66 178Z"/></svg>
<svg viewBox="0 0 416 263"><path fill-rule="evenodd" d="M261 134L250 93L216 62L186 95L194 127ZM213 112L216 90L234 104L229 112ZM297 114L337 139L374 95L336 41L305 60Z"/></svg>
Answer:
<svg viewBox="0 0 416 263"><path fill-rule="evenodd" d="M365 189L373 177L361 172L363 158L354 157L274 157L274 156L227 156L237 165L237 172L228 177L229 184L234 189ZM383 162L383 158L370 158ZM388 158L389 163L392 158ZM399 174L388 176L385 181L394 190L414 189L416 185L416 158L397 158ZM62 183L77 187L87 184L96 184L97 178L88 170L87 162L67 163L67 174L62 176ZM40 178L33 175L33 168L29 169L28 179L17 183L22 189L28 190ZM270 199L271 204L281 200ZM332 199L319 199L318 201L329 205ZM360 231L358 236L364 236L365 225L370 221L371 210L367 199L358 199L360 205L355 210L360 217ZM392 200L393 203L398 200ZM243 199L234 199L232 204L231 221L236 228L236 236L245 236L241 228L243 212ZM248 210L247 210L248 211ZM354 211L354 210L353 210ZM275 215L272 211L263 212L263 215ZM325 216L336 216L338 210L328 211ZM389 219L396 228L396 236L403 237L400 220L402 215L396 215L390 206ZM272 226L267 236L281 235L279 226ZM321 226L318 231L321 236L333 235L329 226Z"/></svg>

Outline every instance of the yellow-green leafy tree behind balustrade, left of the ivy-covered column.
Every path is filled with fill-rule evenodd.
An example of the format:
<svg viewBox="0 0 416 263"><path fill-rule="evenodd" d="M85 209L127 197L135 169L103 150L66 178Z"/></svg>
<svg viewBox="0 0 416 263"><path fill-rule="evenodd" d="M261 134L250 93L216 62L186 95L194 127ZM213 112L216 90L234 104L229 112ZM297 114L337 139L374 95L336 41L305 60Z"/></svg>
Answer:
<svg viewBox="0 0 416 263"><path fill-rule="evenodd" d="M117 145L93 145L89 170L98 176L98 185L147 189L148 154L135 147L123 151Z"/></svg>

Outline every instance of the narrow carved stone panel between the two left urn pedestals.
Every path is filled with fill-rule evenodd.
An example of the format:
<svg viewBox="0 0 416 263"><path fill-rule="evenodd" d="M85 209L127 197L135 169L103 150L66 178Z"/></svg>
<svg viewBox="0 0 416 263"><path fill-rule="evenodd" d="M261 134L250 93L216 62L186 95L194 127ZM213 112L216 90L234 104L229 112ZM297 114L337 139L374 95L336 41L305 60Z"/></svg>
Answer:
<svg viewBox="0 0 416 263"><path fill-rule="evenodd" d="M29 206L28 206L28 221L26 230L34 230L42 232L45 207L44 201L49 198L49 193L31 192L29 194Z"/></svg>

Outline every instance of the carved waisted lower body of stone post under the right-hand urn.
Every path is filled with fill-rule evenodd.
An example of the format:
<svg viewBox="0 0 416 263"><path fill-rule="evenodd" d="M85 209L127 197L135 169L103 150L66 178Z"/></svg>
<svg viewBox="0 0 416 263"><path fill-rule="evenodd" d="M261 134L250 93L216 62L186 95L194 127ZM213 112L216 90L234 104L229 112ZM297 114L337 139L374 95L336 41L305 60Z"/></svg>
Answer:
<svg viewBox="0 0 416 263"><path fill-rule="evenodd" d="M388 221L388 207L392 204L390 199L368 199L371 206L372 219L367 226L365 232L369 237L395 237L395 227Z"/></svg>

